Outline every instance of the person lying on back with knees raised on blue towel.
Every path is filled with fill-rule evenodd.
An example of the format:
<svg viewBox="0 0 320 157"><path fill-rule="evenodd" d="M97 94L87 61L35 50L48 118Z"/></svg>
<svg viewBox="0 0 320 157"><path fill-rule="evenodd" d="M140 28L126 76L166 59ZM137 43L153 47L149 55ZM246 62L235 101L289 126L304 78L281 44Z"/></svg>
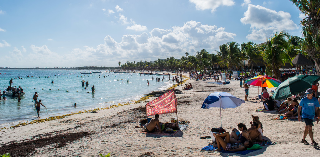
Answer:
<svg viewBox="0 0 320 157"><path fill-rule="evenodd" d="M245 150L246 148L250 148L252 147L252 141L244 141L244 143L235 143L235 144L232 144L230 142L230 135L229 135L229 132L223 132L221 134L215 134L213 133L213 136L216 138L216 142L217 142L217 145L214 145L214 147L217 147L216 151L221 151L221 148L220 146L222 146L223 150L225 151L233 151L233 152L236 152L236 151L243 151ZM226 137L224 141L221 137Z"/></svg>

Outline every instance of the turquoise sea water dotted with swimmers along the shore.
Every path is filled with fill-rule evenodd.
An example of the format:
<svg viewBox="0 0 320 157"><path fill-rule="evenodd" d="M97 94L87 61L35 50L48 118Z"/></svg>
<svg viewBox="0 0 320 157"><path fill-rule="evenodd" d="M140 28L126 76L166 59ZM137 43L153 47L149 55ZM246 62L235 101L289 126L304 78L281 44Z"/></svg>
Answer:
<svg viewBox="0 0 320 157"><path fill-rule="evenodd" d="M17 97L11 96L7 96L6 100L0 100L0 128L38 119L32 102L35 92L38 94L38 100L41 99L42 104L47 107L48 114L44 110L45 107L40 106L40 112L44 110L40 113L40 117L47 118L137 100L143 97L143 94L172 86L168 76L164 76L162 82L163 76L138 73L124 74L104 70L102 73L80 74L91 71L93 70L0 70L2 93L9 86L11 78L13 78L12 87L21 86L26 92L21 96L19 103ZM152 80L152 76L155 79L160 77L160 82ZM126 79L129 79L129 83ZM51 83L52 80L54 83ZM82 86L82 80L88 81L89 86ZM94 93L91 92L92 85L96 89ZM76 107L73 106L74 103L77 104Z"/></svg>

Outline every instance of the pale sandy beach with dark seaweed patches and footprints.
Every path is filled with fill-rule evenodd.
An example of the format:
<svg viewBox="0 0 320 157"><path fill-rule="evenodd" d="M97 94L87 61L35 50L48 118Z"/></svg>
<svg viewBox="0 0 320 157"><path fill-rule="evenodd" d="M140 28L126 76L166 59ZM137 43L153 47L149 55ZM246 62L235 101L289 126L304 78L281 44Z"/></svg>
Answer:
<svg viewBox="0 0 320 157"><path fill-rule="evenodd" d="M276 145L263 146L262 149L246 155L202 151L201 148L212 141L200 137L210 136L211 128L220 127L220 109L202 109L204 99L210 93L217 91L228 92L241 99L245 96L244 88L240 88L239 81L230 81L230 84L226 85L208 82L212 81L187 80L185 83L191 83L193 89L182 90L183 86L175 88L183 92L176 94L178 119L190 123L186 130L174 136L146 135L141 133L142 128L135 128L140 120L146 119L145 104L156 98L152 97L138 104L104 109L97 113L75 114L62 119L0 130L2 147L19 142L25 142L24 146L36 147L35 150L23 146L12 147L13 151L18 152L0 152L0 154L17 153L13 156L32 157L98 157L100 153L105 155L111 153L111 156L137 157L152 152L155 155L148 156L297 156L297 154L319 156L319 146L300 143L305 122L274 120L278 115L276 111L255 112L256 109L262 109L260 100L252 100L258 95L258 87L255 86L250 86L248 97L250 101L237 108L221 109L222 127L231 132L233 128L237 128L238 123L244 123L249 128L252 121L251 114L257 115L263 124L263 139L275 142ZM161 114L159 120L170 122L175 116L175 113ZM316 122L314 124L314 139L319 143L320 124ZM308 136L306 140L311 143Z"/></svg>

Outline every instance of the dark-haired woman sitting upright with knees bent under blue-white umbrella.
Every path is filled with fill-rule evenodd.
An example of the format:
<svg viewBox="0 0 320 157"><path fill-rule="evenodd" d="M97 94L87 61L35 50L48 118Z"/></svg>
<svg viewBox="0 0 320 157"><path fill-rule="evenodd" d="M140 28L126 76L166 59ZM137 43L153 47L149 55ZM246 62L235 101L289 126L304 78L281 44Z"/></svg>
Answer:
<svg viewBox="0 0 320 157"><path fill-rule="evenodd" d="M241 133L236 128L232 129L230 134L231 143L244 143L245 141L251 141L248 129L243 123L238 124L238 129L241 131Z"/></svg>

